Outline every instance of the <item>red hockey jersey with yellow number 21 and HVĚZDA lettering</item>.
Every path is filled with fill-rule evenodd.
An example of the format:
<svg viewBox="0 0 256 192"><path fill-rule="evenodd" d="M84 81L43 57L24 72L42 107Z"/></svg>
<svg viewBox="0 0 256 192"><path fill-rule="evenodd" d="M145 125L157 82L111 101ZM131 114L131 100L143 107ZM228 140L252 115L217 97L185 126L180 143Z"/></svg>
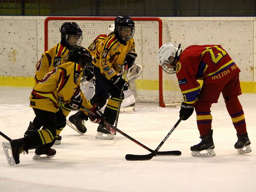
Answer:
<svg viewBox="0 0 256 192"><path fill-rule="evenodd" d="M200 84L218 83L239 73L240 69L221 45L191 45L180 53L176 65L183 101L194 104L200 92ZM211 94L211 93L209 93Z"/></svg>

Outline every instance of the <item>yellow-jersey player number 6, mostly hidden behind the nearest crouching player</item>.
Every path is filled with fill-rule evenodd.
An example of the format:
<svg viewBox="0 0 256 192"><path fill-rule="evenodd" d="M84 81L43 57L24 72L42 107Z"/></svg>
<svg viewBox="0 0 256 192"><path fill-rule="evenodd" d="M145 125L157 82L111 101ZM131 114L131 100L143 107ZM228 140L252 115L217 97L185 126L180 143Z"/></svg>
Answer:
<svg viewBox="0 0 256 192"><path fill-rule="evenodd" d="M42 54L41 59L36 63L35 86L41 81L46 73L61 65L64 60L68 59L68 52L72 48L79 46L82 43L82 30L75 22L64 22L60 27L61 41ZM66 123L66 116L72 110L71 107L64 106L62 109L63 115L58 116L57 124L59 129L63 129ZM64 123L63 123L64 122ZM38 127L35 126L38 125ZM61 127L60 127L61 126ZM30 132L41 128L38 120L34 119L29 123L24 136L28 136ZM55 144L60 144L61 136L58 135Z"/></svg>

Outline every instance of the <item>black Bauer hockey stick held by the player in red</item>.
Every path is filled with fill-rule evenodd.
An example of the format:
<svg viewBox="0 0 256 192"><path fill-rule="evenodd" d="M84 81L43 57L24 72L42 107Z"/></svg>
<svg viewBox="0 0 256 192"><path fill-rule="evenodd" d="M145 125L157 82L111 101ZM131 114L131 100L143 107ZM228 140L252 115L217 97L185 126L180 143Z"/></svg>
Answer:
<svg viewBox="0 0 256 192"><path fill-rule="evenodd" d="M178 124L180 123L180 121L182 119L183 119L183 116L180 117L180 119L177 121L177 123L172 127L171 131L168 132L168 134L165 136L165 138L162 140L162 142L158 145L158 147L152 153L149 153L148 155L132 155L132 154L127 154L125 156L125 159L127 161L143 161L143 160L152 159L153 156L156 156L156 154L158 153L157 151L161 148L161 146L164 144L164 142L172 134L172 132L178 126Z"/></svg>

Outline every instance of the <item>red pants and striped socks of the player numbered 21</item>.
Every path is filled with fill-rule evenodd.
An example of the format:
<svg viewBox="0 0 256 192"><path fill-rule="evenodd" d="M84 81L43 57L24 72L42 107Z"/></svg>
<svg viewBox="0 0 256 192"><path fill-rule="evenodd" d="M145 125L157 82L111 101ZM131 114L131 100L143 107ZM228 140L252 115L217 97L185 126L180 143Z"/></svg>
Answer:
<svg viewBox="0 0 256 192"><path fill-rule="evenodd" d="M239 73L232 78L215 84L203 84L198 100L195 103L196 122L201 136L208 135L212 128L212 103L217 103L220 93L224 98L228 114L231 117L233 125L238 135L247 133L244 119L244 111L238 100L241 95L241 87L239 82Z"/></svg>

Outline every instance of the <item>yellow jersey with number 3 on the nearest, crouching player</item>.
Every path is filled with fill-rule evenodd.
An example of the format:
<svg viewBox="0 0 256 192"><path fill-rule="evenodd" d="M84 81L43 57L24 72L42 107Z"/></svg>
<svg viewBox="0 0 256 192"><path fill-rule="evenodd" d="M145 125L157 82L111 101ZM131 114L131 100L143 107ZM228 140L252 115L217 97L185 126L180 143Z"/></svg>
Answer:
<svg viewBox="0 0 256 192"><path fill-rule="evenodd" d="M81 76L82 68L74 62L69 61L54 68L34 87L29 98L30 107L56 113L63 104L70 102L76 89L80 89ZM82 105L92 108L84 94L81 97Z"/></svg>

